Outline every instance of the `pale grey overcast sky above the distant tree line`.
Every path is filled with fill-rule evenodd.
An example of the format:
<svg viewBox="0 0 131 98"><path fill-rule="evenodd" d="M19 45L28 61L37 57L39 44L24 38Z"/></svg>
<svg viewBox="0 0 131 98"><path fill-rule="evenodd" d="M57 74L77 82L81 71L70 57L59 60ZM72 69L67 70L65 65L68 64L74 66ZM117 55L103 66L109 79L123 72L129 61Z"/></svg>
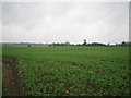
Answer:
<svg viewBox="0 0 131 98"><path fill-rule="evenodd" d="M0 20L1 21L1 20ZM2 2L3 42L129 40L128 2Z"/></svg>

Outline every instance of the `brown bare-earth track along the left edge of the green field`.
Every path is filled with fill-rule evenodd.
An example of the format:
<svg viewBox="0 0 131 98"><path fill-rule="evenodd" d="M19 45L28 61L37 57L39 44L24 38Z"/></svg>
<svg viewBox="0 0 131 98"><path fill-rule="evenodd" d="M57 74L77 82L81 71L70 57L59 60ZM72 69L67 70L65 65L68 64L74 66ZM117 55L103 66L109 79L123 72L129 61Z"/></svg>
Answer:
<svg viewBox="0 0 131 98"><path fill-rule="evenodd" d="M5 85L7 91L10 96L24 96L22 93L22 82L21 77L19 76L17 69L15 64L17 64L19 60L15 57L3 56L3 58L11 59L11 61L2 61L3 68L3 85Z"/></svg>

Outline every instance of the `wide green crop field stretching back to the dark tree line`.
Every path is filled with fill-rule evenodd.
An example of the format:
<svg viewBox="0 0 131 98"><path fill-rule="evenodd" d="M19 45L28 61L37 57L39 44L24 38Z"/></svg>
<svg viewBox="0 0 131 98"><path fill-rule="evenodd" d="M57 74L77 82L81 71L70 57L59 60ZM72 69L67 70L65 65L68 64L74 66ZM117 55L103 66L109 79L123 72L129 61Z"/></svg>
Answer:
<svg viewBox="0 0 131 98"><path fill-rule="evenodd" d="M2 50L4 66L17 71L23 95L129 95L128 47L3 46Z"/></svg>

